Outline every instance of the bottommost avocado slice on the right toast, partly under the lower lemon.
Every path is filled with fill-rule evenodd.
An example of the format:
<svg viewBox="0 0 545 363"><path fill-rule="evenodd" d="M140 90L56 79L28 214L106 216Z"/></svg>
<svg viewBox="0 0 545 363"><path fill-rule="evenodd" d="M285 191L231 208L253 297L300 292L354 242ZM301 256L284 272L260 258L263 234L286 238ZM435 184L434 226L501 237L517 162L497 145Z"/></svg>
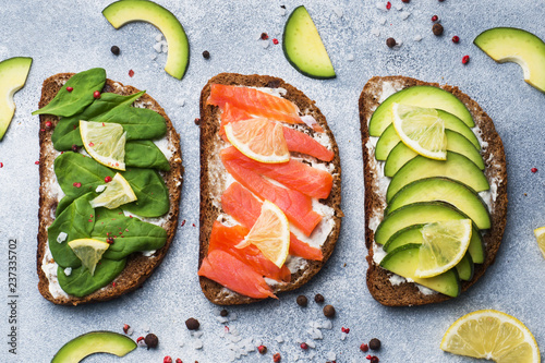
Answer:
<svg viewBox="0 0 545 363"><path fill-rule="evenodd" d="M380 267L448 297L458 297L461 288L456 268L425 279L414 276L419 266L419 251L420 244L402 245L389 252L380 262Z"/></svg>

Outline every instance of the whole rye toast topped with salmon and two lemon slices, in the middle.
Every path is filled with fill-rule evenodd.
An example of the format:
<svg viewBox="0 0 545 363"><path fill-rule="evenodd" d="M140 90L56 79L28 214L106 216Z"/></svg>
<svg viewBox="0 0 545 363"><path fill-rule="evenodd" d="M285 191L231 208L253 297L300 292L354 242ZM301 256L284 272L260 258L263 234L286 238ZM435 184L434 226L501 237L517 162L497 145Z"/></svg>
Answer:
<svg viewBox="0 0 545 363"><path fill-rule="evenodd" d="M342 217L325 117L280 78L221 73L202 90L199 125L204 294L233 305L301 287L331 255Z"/></svg>

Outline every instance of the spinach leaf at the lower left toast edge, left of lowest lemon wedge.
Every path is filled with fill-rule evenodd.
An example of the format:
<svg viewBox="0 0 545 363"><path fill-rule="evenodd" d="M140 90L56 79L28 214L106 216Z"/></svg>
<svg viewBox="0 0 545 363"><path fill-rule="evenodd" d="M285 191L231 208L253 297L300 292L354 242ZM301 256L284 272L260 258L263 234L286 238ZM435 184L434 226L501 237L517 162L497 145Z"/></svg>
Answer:
<svg viewBox="0 0 545 363"><path fill-rule="evenodd" d="M68 243L90 237L90 231L95 226L95 209L90 207L89 201L95 196L95 193L87 193L75 199L55 219L47 230L49 250L51 250L55 262L61 267L78 267L82 265L82 261L74 254ZM61 243L57 242L60 232L68 234L66 239Z"/></svg>

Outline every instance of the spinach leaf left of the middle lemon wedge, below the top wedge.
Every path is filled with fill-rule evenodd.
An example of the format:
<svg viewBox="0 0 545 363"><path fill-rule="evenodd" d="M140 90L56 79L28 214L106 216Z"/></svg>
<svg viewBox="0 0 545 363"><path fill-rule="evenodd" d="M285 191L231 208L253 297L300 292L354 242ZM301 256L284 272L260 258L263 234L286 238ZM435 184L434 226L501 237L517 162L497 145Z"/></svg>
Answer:
<svg viewBox="0 0 545 363"><path fill-rule="evenodd" d="M59 155L53 166L59 185L64 194L72 198L94 192L98 185L105 183L106 177L113 178L116 174L116 171L78 153Z"/></svg>

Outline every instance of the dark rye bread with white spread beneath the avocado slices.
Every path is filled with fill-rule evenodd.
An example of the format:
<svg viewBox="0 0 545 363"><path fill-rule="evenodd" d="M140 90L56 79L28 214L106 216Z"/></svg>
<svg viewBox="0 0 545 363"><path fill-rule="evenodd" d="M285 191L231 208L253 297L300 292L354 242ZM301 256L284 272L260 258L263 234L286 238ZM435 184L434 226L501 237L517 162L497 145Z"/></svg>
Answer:
<svg viewBox="0 0 545 363"><path fill-rule="evenodd" d="M375 76L367 82L360 96L360 122L365 179L365 244L368 250L366 258L370 266L367 269L367 287L373 298L383 305L407 306L437 303L450 298L440 293L425 295L419 291L414 283L410 282L392 286L389 281L391 274L373 262L374 232L370 228L370 221L378 215L382 219L386 207L386 198L384 192L382 193L378 187L378 177L374 164L376 162L374 148L371 147L372 150L367 148L370 140L367 125L371 116L379 105L379 97L385 82L393 84L397 90L415 85L428 85L440 87L458 97L470 110L475 125L481 129L480 136L482 141L487 143L487 146L483 147L481 152L485 161L486 178L489 182L492 180L501 181L497 186L496 201L492 204L492 228L483 235L486 246L485 262L483 264L475 264L474 276L470 281L462 281L462 292L475 283L483 276L486 268L494 263L499 244L501 243L507 217L507 167L504 144L486 112L458 87L449 85L439 86L437 83L426 83L404 76Z"/></svg>

